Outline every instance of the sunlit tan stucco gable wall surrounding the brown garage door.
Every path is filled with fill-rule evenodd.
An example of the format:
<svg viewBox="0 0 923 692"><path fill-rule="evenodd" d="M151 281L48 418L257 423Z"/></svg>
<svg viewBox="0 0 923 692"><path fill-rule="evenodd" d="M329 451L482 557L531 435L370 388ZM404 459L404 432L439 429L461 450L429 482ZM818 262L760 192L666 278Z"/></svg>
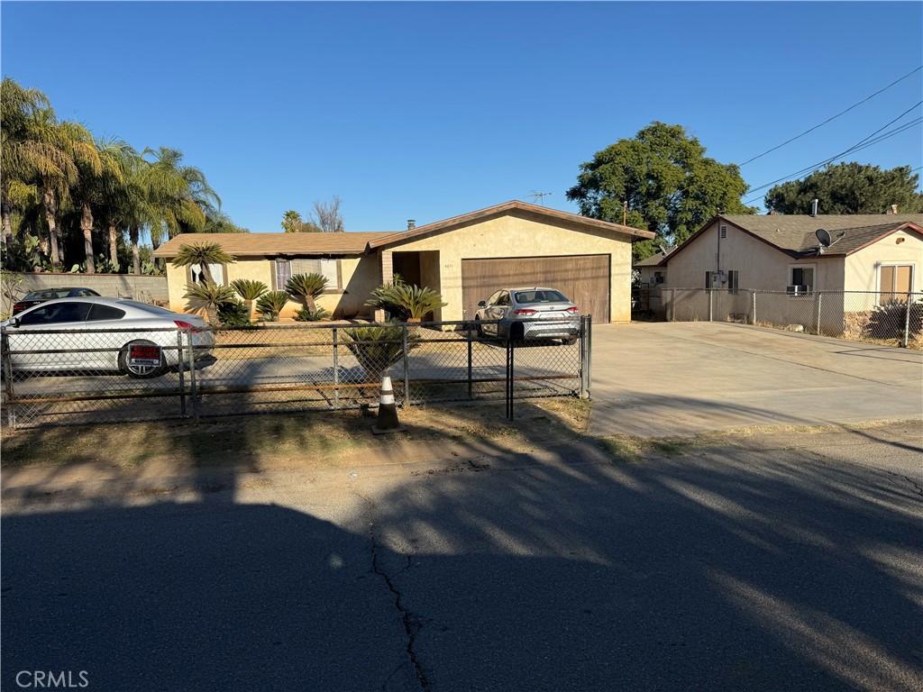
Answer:
<svg viewBox="0 0 923 692"><path fill-rule="evenodd" d="M462 259L485 257L555 257L610 255L610 315L613 322L631 319L631 239L628 235L587 233L569 221L548 221L528 212L473 222L445 233L392 248L438 250L442 319L462 319Z"/></svg>

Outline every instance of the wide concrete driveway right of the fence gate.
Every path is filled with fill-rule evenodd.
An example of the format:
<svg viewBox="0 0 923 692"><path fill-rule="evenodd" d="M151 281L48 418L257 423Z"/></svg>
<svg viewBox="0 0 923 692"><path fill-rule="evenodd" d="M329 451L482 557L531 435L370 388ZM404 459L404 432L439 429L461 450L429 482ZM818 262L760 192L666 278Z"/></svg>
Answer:
<svg viewBox="0 0 923 692"><path fill-rule="evenodd" d="M708 322L593 328L593 435L919 419L923 353Z"/></svg>

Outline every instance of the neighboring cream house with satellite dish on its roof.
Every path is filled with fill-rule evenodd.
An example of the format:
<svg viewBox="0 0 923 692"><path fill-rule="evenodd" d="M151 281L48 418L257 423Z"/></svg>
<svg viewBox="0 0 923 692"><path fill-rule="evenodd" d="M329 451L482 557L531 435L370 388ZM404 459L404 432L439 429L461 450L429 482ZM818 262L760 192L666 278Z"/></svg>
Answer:
<svg viewBox="0 0 923 692"><path fill-rule="evenodd" d="M819 229L829 233L829 246ZM702 300L704 292L682 289L712 288L722 290L726 314L745 316L747 290L773 291L777 298L758 301L758 319L820 322L822 303L820 326L835 334L847 314L923 292L923 214L719 215L658 267L668 271L661 289L672 291L665 300L674 309Z"/></svg>

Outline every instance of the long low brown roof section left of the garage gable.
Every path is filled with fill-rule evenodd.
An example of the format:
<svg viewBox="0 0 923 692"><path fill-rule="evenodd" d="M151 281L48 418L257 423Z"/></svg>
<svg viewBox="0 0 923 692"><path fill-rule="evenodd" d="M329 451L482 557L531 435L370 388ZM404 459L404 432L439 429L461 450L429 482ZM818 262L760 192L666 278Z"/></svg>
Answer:
<svg viewBox="0 0 923 692"><path fill-rule="evenodd" d="M154 257L176 257L182 245L217 243L234 257L276 255L362 255L371 240L392 235L377 233L180 233L154 250Z"/></svg>

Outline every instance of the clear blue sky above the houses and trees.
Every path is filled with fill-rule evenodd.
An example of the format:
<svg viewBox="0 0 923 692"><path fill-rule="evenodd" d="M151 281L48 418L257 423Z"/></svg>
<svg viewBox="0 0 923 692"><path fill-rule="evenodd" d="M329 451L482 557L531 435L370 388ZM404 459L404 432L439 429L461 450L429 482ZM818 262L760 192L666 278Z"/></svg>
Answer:
<svg viewBox="0 0 923 692"><path fill-rule="evenodd" d="M51 4L2 8L2 70L60 117L181 149L234 221L339 195L352 231L533 190L653 120L744 161L920 65L923 5ZM923 72L744 167L751 186L923 99ZM916 113L909 114L906 122ZM923 163L919 126L853 159ZM763 191L764 192L764 191Z"/></svg>

